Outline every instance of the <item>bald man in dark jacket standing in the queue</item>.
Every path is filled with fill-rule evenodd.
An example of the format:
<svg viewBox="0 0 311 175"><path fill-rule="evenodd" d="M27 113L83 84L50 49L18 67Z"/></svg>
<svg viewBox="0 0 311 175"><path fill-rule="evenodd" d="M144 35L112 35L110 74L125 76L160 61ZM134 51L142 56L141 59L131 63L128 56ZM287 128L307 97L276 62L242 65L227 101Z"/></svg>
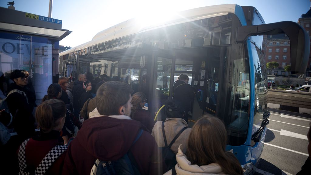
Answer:
<svg viewBox="0 0 311 175"><path fill-rule="evenodd" d="M83 82L86 81L86 75L84 74L79 74L78 76L78 81L75 81L73 84L73 89L72 89L72 97L73 97L73 109L74 109L74 114L75 116L79 116L80 113L80 98L81 94L85 91L83 89Z"/></svg>

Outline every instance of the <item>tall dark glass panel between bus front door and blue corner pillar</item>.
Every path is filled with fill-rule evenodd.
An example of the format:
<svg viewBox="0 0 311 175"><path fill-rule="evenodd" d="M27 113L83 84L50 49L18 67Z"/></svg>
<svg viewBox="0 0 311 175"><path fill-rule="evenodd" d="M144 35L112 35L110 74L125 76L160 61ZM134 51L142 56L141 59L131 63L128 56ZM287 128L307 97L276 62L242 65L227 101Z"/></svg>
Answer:
<svg viewBox="0 0 311 175"><path fill-rule="evenodd" d="M228 94L224 122L230 145L244 144L249 121L250 81L249 63L244 45L232 45L229 63Z"/></svg>

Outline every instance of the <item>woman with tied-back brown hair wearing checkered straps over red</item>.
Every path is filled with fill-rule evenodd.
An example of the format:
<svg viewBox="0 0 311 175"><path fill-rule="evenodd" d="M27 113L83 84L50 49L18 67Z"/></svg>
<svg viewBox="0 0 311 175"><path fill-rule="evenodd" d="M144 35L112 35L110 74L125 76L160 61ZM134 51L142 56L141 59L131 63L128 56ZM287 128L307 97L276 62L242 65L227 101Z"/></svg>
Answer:
<svg viewBox="0 0 311 175"><path fill-rule="evenodd" d="M19 148L20 174L61 174L67 147L59 144L58 139L65 123L65 103L57 99L46 100L37 107L35 116L40 131ZM48 162L42 161L51 150L58 154L51 156Z"/></svg>

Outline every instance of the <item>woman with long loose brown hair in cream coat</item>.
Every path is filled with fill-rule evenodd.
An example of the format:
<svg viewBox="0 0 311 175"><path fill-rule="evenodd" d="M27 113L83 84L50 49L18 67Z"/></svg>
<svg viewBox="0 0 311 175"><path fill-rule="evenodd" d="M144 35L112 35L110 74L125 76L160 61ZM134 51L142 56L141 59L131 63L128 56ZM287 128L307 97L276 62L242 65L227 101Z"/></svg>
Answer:
<svg viewBox="0 0 311 175"><path fill-rule="evenodd" d="M190 132L187 156L178 149L178 164L173 171L176 174L243 174L239 160L231 151L225 150L226 144L227 131L222 121L211 115L203 116Z"/></svg>

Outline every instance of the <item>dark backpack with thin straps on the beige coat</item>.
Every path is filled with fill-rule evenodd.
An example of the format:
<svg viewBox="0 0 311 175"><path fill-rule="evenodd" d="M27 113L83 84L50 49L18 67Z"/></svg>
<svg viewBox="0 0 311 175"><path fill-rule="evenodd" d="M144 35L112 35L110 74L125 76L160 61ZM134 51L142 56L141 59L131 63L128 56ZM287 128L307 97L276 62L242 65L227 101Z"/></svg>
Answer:
<svg viewBox="0 0 311 175"><path fill-rule="evenodd" d="M164 131L164 122L162 122L162 133L163 133L163 138L164 138L164 143L165 143L165 147L160 147L160 151L162 153L162 158L164 159L164 162L167 166L168 169L172 169L175 167L175 165L177 164L176 161L176 154L172 151L171 147L174 144L174 142L177 140L177 138L179 137L179 135L181 135L181 133L186 130L187 127L184 127L183 129L181 129L177 135L174 137L174 139L171 141L171 143L169 145L167 145L167 141L166 141L166 136L165 136L165 131Z"/></svg>

